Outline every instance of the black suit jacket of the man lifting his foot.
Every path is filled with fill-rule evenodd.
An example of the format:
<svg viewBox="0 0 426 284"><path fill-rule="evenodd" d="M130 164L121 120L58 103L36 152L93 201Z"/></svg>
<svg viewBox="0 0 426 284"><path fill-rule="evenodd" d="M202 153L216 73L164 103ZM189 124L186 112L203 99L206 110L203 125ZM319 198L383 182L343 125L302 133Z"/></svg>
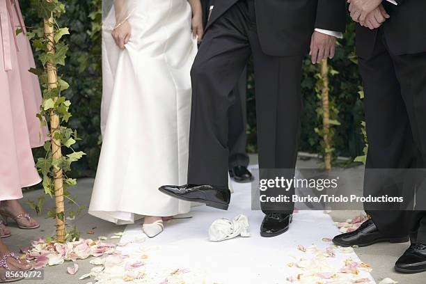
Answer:
<svg viewBox="0 0 426 284"><path fill-rule="evenodd" d="M214 0L206 30L239 0ZM305 55L315 28L345 32L345 0L255 0L263 52L272 56Z"/></svg>

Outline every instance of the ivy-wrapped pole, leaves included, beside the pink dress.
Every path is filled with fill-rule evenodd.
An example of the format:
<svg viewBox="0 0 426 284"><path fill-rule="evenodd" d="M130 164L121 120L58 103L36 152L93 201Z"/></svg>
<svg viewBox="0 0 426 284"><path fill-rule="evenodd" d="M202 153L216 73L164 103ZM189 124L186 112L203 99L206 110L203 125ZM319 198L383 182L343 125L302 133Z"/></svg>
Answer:
<svg viewBox="0 0 426 284"><path fill-rule="evenodd" d="M38 52L37 57L42 67L31 68L29 71L38 75L42 87L42 103L37 117L42 127L47 126L50 129L48 137L44 138L46 140L45 157L38 158L36 167L42 175L45 194L56 198L56 208L49 210L47 216L56 219L56 226L59 223L59 226L65 227L65 219L74 219L74 216L83 208L77 205L70 196L68 189L76 185L77 180L68 177L67 173L71 170L71 164L74 161L78 161L86 155L73 148L80 139L76 130L66 126L72 117L69 111L71 102L62 93L70 85L57 74L58 66L65 65L68 52L68 45L65 45L62 39L70 32L68 27L61 27L56 22L56 19L65 13L65 5L61 1L31 0L31 7L37 11L40 26L28 28L26 36ZM17 31L17 33L20 32L22 30ZM53 123L54 120L56 120L55 123ZM40 136L40 139L43 138ZM62 152L65 154L63 155ZM58 182L58 179L61 181ZM58 192L61 196L58 196ZM66 212L65 205L63 205L64 198L69 203L77 205L77 210ZM40 196L37 202L29 201L29 205L36 212L41 212L44 199L45 196ZM58 204L58 200L62 200L62 204ZM68 234L66 229L64 230L65 238L78 239L77 227L72 228ZM61 236L58 237L58 228L56 228L56 237L58 242L65 240Z"/></svg>

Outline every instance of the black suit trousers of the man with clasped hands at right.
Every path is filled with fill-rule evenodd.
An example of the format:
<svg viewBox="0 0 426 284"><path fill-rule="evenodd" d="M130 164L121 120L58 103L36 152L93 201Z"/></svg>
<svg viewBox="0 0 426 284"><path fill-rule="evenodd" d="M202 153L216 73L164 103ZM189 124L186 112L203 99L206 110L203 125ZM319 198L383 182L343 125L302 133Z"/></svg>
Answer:
<svg viewBox="0 0 426 284"><path fill-rule="evenodd" d="M426 168L426 53L392 54L380 29L371 58L359 58L365 91L365 120L368 155L365 166L365 195L402 195L413 198L425 209L424 177L413 182L416 187L383 187L373 177L374 169L413 169L424 175ZM410 178L413 171L407 171ZM383 176L381 177L383 178ZM388 176L383 182L388 182ZM376 182L371 183L371 181ZM385 189L385 190L384 190ZM394 190L395 192L391 192ZM401 191L402 190L402 191ZM397 193L396 193L397 191ZM409 208L407 208L409 209ZM412 208L411 208L412 209ZM377 228L389 236L417 235L426 244L426 214L423 210L366 210Z"/></svg>

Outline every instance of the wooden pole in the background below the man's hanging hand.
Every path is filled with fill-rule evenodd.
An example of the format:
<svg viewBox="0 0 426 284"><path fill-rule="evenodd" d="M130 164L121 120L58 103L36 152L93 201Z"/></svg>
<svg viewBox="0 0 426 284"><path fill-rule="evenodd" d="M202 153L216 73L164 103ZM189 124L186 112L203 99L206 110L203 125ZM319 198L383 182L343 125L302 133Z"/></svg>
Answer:
<svg viewBox="0 0 426 284"><path fill-rule="evenodd" d="M322 129L324 131L324 164L326 170L331 170L331 141L330 141L330 106L329 106L329 65L327 59L321 61L322 77Z"/></svg>

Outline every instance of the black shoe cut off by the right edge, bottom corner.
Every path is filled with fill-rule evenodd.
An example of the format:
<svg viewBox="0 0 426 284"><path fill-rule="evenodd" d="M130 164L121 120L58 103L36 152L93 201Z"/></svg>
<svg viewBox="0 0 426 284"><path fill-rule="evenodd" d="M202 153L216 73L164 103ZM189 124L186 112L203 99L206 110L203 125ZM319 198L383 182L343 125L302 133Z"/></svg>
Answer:
<svg viewBox="0 0 426 284"><path fill-rule="evenodd" d="M411 244L395 263L395 270L404 273L426 271L426 244Z"/></svg>

